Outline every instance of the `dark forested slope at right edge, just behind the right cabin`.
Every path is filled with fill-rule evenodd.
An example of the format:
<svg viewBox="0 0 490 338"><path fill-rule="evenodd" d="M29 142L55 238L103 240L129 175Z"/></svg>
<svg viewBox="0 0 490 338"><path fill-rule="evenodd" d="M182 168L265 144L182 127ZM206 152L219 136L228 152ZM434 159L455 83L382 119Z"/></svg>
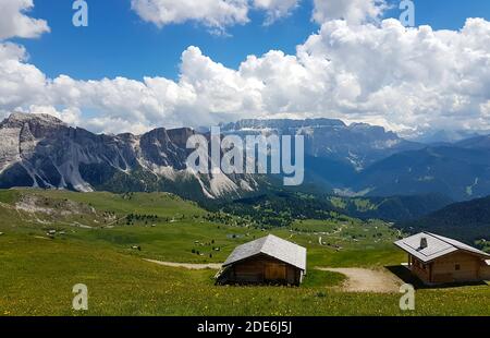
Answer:
<svg viewBox="0 0 490 338"><path fill-rule="evenodd" d="M451 204L418 220L400 224L401 227L461 239L467 243L490 241L490 196Z"/></svg>

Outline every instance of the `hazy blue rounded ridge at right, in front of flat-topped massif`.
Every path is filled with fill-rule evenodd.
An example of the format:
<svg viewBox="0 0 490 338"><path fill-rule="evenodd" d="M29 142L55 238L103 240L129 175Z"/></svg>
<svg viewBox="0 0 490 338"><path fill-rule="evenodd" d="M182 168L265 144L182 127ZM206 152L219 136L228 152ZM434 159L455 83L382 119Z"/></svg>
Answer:
<svg viewBox="0 0 490 338"><path fill-rule="evenodd" d="M376 162L353 183L370 196L439 193L454 201L490 194L490 147L426 147Z"/></svg>

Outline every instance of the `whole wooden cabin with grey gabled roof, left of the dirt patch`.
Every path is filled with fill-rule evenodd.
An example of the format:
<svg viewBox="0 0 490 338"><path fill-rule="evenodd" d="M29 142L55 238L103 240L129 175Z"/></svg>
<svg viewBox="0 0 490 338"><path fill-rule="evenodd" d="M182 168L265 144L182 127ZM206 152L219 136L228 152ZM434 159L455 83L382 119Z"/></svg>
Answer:
<svg viewBox="0 0 490 338"><path fill-rule="evenodd" d="M306 275L306 249L275 236L237 246L217 275L218 283L299 286Z"/></svg>

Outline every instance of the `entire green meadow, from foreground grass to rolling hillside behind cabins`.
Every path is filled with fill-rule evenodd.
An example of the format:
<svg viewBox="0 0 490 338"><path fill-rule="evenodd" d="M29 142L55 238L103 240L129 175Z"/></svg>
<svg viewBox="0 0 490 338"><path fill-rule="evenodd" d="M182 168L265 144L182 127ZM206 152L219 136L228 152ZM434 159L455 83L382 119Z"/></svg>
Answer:
<svg viewBox="0 0 490 338"><path fill-rule="evenodd" d="M0 191L0 315L490 314L487 285L419 289L416 311L402 312L401 293L346 292L345 276L315 269L400 265L400 232L383 221L306 219L265 230L216 216L166 193ZM216 270L144 259L221 263L268 233L308 249L301 287L215 286ZM86 312L72 310L76 283L88 287Z"/></svg>

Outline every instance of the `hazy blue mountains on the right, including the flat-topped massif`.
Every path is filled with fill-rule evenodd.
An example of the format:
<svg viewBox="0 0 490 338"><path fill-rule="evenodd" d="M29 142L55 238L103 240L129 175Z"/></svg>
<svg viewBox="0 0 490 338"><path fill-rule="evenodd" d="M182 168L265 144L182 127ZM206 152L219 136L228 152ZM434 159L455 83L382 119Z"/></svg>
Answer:
<svg viewBox="0 0 490 338"><path fill-rule="evenodd" d="M304 135L306 184L343 196L440 194L466 201L490 194L488 135L427 144L381 126L329 119L244 120L222 128Z"/></svg>

